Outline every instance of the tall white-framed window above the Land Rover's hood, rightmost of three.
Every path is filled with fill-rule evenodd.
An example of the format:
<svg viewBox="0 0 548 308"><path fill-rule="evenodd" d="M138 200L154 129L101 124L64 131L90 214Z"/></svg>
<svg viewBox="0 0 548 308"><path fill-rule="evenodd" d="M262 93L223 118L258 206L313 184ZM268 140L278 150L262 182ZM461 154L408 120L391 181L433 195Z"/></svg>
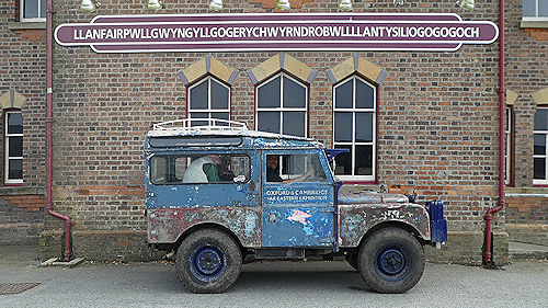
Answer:
<svg viewBox="0 0 548 308"><path fill-rule="evenodd" d="M357 76L334 87L333 144L349 150L335 157L341 180L375 180L376 96L376 88Z"/></svg>

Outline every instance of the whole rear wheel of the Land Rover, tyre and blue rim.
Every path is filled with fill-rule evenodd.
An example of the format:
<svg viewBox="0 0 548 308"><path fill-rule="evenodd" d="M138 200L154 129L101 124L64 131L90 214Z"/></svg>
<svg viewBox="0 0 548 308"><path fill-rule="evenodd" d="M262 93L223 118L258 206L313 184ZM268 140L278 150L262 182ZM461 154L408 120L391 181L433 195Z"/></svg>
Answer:
<svg viewBox="0 0 548 308"><path fill-rule="evenodd" d="M176 253L175 267L193 293L221 293L240 275L241 250L226 232L202 229L186 237Z"/></svg>

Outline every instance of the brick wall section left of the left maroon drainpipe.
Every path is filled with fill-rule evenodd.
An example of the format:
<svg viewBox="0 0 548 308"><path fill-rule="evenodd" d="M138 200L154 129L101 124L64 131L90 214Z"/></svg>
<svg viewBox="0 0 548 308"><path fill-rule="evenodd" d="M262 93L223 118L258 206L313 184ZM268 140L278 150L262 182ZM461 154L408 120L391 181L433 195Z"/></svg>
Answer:
<svg viewBox="0 0 548 308"><path fill-rule="evenodd" d="M46 31L21 30L16 1L0 1L0 95L13 89L26 98L22 106L23 187L0 189L0 243L34 243L44 227ZM3 122L0 132L3 134ZM3 179L3 138L0 176ZM0 186L3 181L0 181ZM27 194L27 189L34 193Z"/></svg>

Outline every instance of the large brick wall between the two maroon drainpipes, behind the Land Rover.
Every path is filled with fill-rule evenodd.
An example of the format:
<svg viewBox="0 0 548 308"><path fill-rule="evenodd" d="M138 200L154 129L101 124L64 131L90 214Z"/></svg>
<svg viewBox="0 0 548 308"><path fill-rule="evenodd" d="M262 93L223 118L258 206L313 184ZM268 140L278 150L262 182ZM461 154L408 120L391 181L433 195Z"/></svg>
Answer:
<svg viewBox="0 0 548 308"><path fill-rule="evenodd" d="M191 2L170 3L161 13L212 13L206 2ZM57 24L89 22L96 14L147 13L140 2L105 2L100 13L88 14L55 3ZM336 3L304 1L292 12L336 12ZM402 7L354 2L354 12L443 12L496 22L498 3L477 7L468 12L453 0ZM225 1L224 14L242 12L272 9ZM326 70L353 53L287 53L318 70L310 84L310 135L329 146L332 85ZM498 43L465 45L455 53L357 53L387 70L378 100L379 183L416 187L421 199L446 201L453 230L481 230L482 216L498 203ZM126 192L142 185L142 139L149 125L185 116L186 89L178 72L206 55L236 69L231 118L253 127L254 88L246 72L276 54L95 54L89 47L56 46L55 208L73 217L77 230L145 229L144 195ZM84 194L90 186L102 189ZM48 228L61 226L47 220Z"/></svg>

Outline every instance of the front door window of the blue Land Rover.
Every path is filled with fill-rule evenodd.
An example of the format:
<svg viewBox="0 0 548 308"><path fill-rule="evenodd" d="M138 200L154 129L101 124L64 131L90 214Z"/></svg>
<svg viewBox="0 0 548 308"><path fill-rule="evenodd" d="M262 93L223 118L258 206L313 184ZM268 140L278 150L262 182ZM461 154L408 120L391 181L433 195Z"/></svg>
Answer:
<svg viewBox="0 0 548 308"><path fill-rule="evenodd" d="M266 155L267 182L326 182L318 155Z"/></svg>

